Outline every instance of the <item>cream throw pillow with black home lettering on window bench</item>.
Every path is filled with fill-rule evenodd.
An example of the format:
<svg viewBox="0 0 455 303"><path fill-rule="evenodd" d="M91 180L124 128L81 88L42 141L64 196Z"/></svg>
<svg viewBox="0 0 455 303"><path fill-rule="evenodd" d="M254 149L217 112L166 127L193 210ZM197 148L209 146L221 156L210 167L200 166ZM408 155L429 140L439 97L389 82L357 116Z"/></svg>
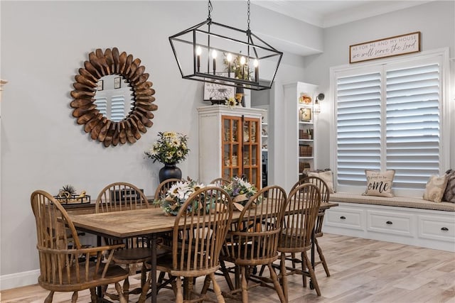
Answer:
<svg viewBox="0 0 455 303"><path fill-rule="evenodd" d="M395 177L395 170L378 172L375 170L365 170L367 177L367 188L364 196L393 197L392 182Z"/></svg>

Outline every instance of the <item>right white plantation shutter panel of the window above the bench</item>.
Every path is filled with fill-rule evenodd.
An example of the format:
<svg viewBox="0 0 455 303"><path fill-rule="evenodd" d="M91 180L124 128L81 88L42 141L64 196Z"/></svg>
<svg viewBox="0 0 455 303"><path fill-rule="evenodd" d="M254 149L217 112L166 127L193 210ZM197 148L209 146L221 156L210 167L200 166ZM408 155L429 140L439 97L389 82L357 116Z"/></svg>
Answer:
<svg viewBox="0 0 455 303"><path fill-rule="evenodd" d="M387 70L387 169L394 187L422 189L439 175L438 63Z"/></svg>

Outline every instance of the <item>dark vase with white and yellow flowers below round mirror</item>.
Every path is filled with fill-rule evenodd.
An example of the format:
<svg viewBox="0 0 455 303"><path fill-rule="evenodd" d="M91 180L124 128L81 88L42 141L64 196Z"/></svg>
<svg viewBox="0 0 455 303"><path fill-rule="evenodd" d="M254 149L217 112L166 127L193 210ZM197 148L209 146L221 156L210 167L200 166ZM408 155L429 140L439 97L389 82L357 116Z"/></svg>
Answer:
<svg viewBox="0 0 455 303"><path fill-rule="evenodd" d="M190 151L187 145L188 136L173 131L159 132L158 136L159 139L150 150L144 153L154 162L164 164L159 171L159 182L170 178L181 179L182 172L176 165L185 160Z"/></svg>

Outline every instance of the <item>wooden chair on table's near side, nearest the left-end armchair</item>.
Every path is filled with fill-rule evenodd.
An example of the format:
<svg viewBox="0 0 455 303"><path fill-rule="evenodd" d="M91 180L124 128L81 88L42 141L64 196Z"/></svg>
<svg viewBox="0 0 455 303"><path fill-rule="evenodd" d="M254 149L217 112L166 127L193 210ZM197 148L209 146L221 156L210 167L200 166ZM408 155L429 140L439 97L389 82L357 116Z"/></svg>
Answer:
<svg viewBox="0 0 455 303"><path fill-rule="evenodd" d="M214 273L220 267L220 250L231 220L232 201L220 187L198 189L181 206L173 227L172 255L159 258L156 266L173 279L176 302L209 299L206 292L210 282L218 302L224 302ZM196 293L191 285L196 277L202 276L205 276L203 288Z"/></svg>

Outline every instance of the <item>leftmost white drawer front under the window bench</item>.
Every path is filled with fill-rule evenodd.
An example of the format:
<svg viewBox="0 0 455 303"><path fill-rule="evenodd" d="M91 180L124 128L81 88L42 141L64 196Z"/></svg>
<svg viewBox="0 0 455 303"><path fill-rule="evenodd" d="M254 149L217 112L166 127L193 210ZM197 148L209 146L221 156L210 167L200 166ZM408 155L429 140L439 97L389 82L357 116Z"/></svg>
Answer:
<svg viewBox="0 0 455 303"><path fill-rule="evenodd" d="M347 207L334 207L326 210L325 225L350 229L363 230L365 220L361 209L350 209Z"/></svg>

